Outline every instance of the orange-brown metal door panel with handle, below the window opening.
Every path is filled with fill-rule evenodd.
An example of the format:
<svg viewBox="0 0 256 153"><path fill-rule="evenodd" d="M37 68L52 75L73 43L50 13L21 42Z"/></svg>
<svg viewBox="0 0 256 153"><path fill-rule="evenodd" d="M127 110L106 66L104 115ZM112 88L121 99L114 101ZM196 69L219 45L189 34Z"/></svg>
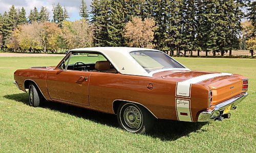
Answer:
<svg viewBox="0 0 256 153"><path fill-rule="evenodd" d="M47 90L53 100L89 106L90 72L55 69L47 74Z"/></svg>

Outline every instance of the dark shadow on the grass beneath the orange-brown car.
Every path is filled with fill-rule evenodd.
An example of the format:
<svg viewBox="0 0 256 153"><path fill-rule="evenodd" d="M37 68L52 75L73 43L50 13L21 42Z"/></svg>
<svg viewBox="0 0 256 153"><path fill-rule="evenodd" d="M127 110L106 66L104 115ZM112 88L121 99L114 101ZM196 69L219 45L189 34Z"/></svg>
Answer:
<svg viewBox="0 0 256 153"><path fill-rule="evenodd" d="M5 95L4 97L29 105L28 93L10 94ZM116 115L96 112L50 101L46 101L40 107L59 111L62 113L68 113L70 115L89 119L100 124L105 124L112 127L119 127ZM207 123L157 120L154 129L150 133L148 133L148 136L151 136L153 138L159 138L162 141L174 141L183 136L189 137L189 133L191 132L205 132L205 130L201 129L201 127L205 124Z"/></svg>

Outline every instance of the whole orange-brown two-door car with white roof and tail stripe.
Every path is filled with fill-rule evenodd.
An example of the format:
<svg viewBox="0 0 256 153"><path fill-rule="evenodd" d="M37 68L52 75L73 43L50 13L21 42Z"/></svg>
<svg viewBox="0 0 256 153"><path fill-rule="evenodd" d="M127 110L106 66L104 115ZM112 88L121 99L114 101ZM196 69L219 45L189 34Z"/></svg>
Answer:
<svg viewBox="0 0 256 153"><path fill-rule="evenodd" d="M248 94L239 74L195 71L145 48L72 49L57 66L14 72L30 105L56 101L117 114L122 129L145 133L155 119L207 122L230 117Z"/></svg>

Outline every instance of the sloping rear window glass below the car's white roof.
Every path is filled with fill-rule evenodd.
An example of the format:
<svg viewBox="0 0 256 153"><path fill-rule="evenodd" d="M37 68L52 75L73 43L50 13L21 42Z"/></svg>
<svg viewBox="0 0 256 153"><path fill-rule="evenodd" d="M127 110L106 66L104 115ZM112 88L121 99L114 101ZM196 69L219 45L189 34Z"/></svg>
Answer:
<svg viewBox="0 0 256 153"><path fill-rule="evenodd" d="M131 56L148 72L168 68L185 68L162 52L136 51Z"/></svg>

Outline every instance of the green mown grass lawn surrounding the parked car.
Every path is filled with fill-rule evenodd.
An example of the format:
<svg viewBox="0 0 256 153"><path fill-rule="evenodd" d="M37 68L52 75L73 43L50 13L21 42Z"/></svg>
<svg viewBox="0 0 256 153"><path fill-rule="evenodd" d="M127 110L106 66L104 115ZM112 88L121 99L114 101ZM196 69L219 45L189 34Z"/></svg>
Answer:
<svg viewBox="0 0 256 153"><path fill-rule="evenodd" d="M176 58L190 69L245 75L249 96L222 122L158 120L139 135L120 130L115 115L57 103L30 107L28 94L12 84L13 72L61 58L0 58L0 152L256 152L255 59Z"/></svg>

